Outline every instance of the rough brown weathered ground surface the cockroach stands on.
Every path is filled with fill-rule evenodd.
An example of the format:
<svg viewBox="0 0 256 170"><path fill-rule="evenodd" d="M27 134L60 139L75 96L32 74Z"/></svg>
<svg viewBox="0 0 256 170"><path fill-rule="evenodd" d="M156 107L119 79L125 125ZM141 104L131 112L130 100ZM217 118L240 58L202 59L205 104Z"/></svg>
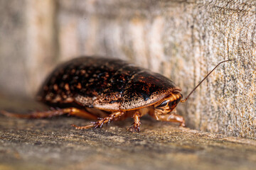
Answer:
<svg viewBox="0 0 256 170"><path fill-rule="evenodd" d="M38 108L0 97L1 109ZM0 169L255 169L256 141L227 137L151 118L142 132L132 120L102 129L75 130L90 120L61 116L26 120L0 115Z"/></svg>

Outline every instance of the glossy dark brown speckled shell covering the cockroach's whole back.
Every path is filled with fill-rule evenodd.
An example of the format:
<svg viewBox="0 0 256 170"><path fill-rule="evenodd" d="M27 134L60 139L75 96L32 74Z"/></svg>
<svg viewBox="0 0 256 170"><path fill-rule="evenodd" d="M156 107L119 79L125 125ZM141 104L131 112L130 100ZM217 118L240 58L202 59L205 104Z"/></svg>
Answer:
<svg viewBox="0 0 256 170"><path fill-rule="evenodd" d="M181 91L161 74L117 59L79 57L50 74L38 99L54 106L79 104L105 111L149 106Z"/></svg>

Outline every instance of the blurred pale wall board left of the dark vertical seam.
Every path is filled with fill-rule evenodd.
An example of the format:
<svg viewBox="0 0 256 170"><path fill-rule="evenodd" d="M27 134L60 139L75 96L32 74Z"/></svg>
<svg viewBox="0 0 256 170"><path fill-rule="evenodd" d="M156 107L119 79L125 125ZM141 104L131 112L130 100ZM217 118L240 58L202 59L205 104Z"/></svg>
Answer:
<svg viewBox="0 0 256 170"><path fill-rule="evenodd" d="M35 94L58 57L55 29L55 1L0 0L0 93Z"/></svg>

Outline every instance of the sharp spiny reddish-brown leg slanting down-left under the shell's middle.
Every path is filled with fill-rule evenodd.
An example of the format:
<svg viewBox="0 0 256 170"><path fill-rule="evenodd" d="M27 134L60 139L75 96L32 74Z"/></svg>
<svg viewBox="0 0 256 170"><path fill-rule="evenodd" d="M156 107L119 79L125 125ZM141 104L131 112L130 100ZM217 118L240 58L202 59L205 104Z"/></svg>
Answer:
<svg viewBox="0 0 256 170"><path fill-rule="evenodd" d="M91 125L86 125L86 126L77 126L77 125L72 125L73 127L75 127L75 129L78 130L82 130L82 129L89 129L89 128L102 128L102 125L104 125L105 123L110 123L113 120L118 120L119 118L122 117L122 115L124 115L123 111L118 111L118 112L114 112L111 115L102 118L101 120L98 120L95 123L92 123Z"/></svg>

